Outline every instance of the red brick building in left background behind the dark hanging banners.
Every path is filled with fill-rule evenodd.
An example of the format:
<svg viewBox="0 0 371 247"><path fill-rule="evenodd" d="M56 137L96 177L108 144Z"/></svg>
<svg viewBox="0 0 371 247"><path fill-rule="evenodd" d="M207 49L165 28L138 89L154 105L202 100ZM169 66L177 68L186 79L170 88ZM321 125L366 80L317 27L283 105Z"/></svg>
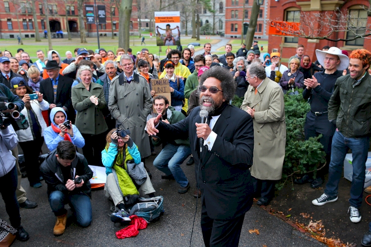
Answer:
<svg viewBox="0 0 371 247"><path fill-rule="evenodd" d="M35 25L38 25L40 35L44 36L46 29L46 16L44 4L40 1L35 3L36 17L34 20L31 11L30 1L19 1L20 5L14 5L10 0L0 0L0 39L17 38L19 29L21 30L22 38L35 37ZM29 5L30 4L30 5ZM94 4L93 0L86 0L84 4ZM97 0L97 5L106 5L106 24L98 24L99 36L118 36L119 11L115 7L114 1ZM67 35L66 12L68 12L68 25L73 37L80 37L79 33L79 16L77 1L71 0L67 3L64 0L48 1L50 31L54 33L62 30ZM18 20L16 17L18 12ZM111 18L112 14L112 18ZM137 0L133 0L133 10L131 17L130 30L138 31L138 14ZM84 10L85 16L85 10ZM112 21L111 21L112 19ZM86 22L86 18L84 19ZM86 24L87 37L96 37L96 25Z"/></svg>

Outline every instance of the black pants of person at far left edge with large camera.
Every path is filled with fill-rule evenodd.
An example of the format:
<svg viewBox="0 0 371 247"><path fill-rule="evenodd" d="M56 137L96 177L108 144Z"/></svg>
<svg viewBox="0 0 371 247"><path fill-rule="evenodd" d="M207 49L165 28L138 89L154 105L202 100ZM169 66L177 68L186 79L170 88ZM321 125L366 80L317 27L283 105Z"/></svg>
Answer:
<svg viewBox="0 0 371 247"><path fill-rule="evenodd" d="M17 189L18 178L17 168L13 167L7 174L0 177L0 193L5 202L5 209L9 215L10 224L17 228L21 225L21 215L19 214L19 204L15 190Z"/></svg>

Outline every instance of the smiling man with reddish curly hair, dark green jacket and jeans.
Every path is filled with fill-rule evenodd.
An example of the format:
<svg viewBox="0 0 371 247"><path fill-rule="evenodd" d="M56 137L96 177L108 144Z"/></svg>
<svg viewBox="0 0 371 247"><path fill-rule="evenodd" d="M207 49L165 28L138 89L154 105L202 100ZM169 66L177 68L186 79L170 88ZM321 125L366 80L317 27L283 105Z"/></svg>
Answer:
<svg viewBox="0 0 371 247"><path fill-rule="evenodd" d="M366 160L370 146L371 129L371 52L356 49L350 56L350 74L339 77L331 99L328 101L328 120L337 127L332 138L331 161L325 193L312 203L317 206L337 200L345 155L352 149L353 179L350 190L350 220L361 221Z"/></svg>

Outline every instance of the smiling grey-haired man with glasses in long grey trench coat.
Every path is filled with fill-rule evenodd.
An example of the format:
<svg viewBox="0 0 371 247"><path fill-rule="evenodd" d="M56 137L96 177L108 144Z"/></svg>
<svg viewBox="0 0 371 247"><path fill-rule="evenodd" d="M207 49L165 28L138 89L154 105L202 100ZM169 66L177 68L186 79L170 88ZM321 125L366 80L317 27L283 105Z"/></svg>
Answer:
<svg viewBox="0 0 371 247"><path fill-rule="evenodd" d="M144 126L152 109L152 97L145 78L134 73L133 59L129 55L122 55L120 64L123 73L110 83L108 109L121 129L130 130L130 137L138 146L143 161L151 155Z"/></svg>

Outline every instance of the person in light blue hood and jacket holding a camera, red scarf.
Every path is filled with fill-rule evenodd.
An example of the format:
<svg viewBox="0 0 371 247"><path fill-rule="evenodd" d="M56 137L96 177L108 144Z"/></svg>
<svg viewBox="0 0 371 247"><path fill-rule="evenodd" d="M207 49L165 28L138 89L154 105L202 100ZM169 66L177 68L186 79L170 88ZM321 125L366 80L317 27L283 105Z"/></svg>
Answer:
<svg viewBox="0 0 371 247"><path fill-rule="evenodd" d="M61 141L70 141L78 148L85 145L85 140L79 129L67 120L67 114L62 107L50 110L51 124L44 130L44 140L47 148L53 151Z"/></svg>

